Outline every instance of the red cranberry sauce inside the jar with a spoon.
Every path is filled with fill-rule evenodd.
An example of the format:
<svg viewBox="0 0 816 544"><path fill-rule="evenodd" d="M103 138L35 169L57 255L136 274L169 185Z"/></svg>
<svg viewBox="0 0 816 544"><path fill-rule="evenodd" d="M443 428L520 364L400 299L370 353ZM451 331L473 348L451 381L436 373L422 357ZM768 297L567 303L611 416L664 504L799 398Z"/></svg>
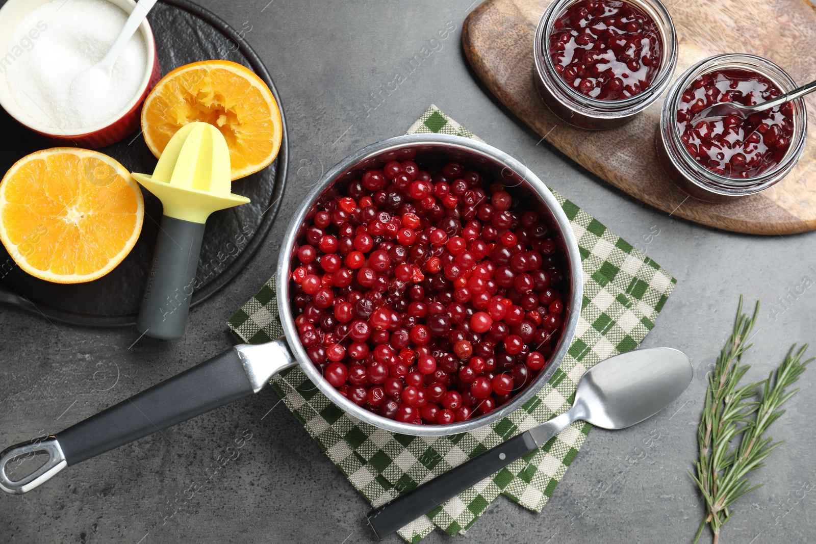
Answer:
<svg viewBox="0 0 816 544"><path fill-rule="evenodd" d="M781 95L767 77L742 69L718 70L698 77L683 92L677 108L677 129L691 157L715 174L752 178L782 161L791 145L793 106L790 102L754 113L708 117L694 115L718 102L753 105Z"/></svg>

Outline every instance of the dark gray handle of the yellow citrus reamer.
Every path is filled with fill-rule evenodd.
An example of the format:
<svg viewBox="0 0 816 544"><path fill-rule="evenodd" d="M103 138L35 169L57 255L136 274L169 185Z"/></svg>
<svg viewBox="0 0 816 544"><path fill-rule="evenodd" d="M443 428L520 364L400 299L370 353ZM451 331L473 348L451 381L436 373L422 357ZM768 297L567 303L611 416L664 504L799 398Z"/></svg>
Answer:
<svg viewBox="0 0 816 544"><path fill-rule="evenodd" d="M136 329L163 340L184 335L204 223L162 216Z"/></svg>

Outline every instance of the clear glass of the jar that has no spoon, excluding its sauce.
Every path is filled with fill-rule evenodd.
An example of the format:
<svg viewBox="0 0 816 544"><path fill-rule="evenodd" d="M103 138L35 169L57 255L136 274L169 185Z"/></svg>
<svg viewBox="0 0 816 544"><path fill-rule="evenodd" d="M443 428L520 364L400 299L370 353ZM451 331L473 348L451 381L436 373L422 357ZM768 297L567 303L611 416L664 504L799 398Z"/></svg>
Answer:
<svg viewBox="0 0 816 544"><path fill-rule="evenodd" d="M645 91L623 100L597 100L576 91L556 72L549 51L549 36L559 16L579 0L556 0L544 12L535 30L534 81L544 104L562 121L583 129L621 126L659 98L672 81L677 66L677 37L672 17L660 0L627 0L657 24L662 42L660 69Z"/></svg>

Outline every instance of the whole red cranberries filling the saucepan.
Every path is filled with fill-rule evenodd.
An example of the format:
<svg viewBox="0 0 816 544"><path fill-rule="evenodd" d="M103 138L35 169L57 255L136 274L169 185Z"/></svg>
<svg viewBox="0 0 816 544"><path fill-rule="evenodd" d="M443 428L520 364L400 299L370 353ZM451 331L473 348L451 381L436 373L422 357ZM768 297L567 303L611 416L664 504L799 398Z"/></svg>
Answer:
<svg viewBox="0 0 816 544"><path fill-rule="evenodd" d="M348 400L400 422L463 421L548 364L569 285L547 225L502 184L400 158L309 211L295 325Z"/></svg>

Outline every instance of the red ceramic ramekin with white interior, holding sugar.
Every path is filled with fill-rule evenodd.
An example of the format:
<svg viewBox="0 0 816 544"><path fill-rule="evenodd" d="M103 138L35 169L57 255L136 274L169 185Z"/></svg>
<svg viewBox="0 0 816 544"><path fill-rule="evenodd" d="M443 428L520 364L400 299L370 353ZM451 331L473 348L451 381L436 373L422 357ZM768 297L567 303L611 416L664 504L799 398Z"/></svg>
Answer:
<svg viewBox="0 0 816 544"><path fill-rule="evenodd" d="M0 8L0 36L10 36L26 15L29 15L33 10L47 2L49 2L49 0L8 0L8 2ZM107 0L107 2L111 2L114 6L122 8L122 10L128 14L133 11L133 7L136 5L134 0ZM38 122L30 120L17 105L2 73L0 73L0 106L2 106L11 117L14 117L17 122L20 122L21 125L37 132L55 144L91 149L104 148L106 145L116 144L118 141L125 139L127 135L131 135L135 130L139 129L142 103L161 77L158 57L156 55L156 42L153 39L153 31L150 29L150 24L147 20L142 21L139 31L144 37L148 57L147 65L140 83L140 92L112 119L76 130L54 129L41 126Z"/></svg>

